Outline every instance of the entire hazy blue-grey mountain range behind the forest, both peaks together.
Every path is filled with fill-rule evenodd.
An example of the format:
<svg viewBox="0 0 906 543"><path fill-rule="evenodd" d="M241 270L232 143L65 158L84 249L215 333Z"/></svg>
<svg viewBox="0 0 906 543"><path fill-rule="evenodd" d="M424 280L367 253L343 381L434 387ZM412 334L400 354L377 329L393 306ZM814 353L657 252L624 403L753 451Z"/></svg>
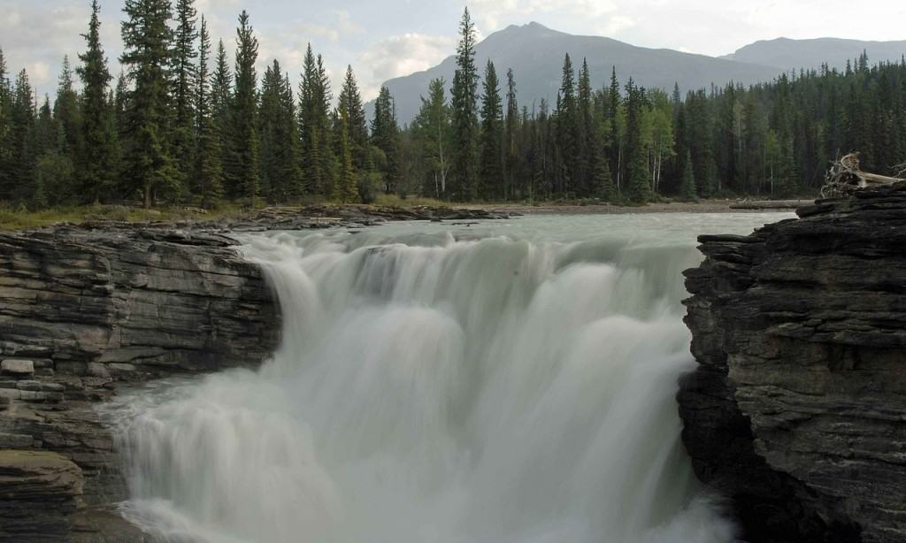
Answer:
<svg viewBox="0 0 906 543"><path fill-rule="evenodd" d="M811 51L815 47L820 49L828 40L833 47L829 47L823 56L830 58L835 55L839 58L814 62L815 55L820 51ZM864 44L872 43L839 38L777 38L750 43L728 55L712 57L669 48L641 47L606 36L564 33L532 22L510 24L487 35L477 43L476 63L479 72L483 73L487 60L494 62L502 87L506 70L512 68L516 75L519 103L531 109L533 104L535 108L539 107L539 100L544 99L548 104L556 100L566 53L573 59L576 71L583 58L587 59L595 88L600 88L609 80L613 68L621 84L631 77L643 87L672 90L676 83L679 90L685 92L708 88L711 84L725 85L730 81L743 85L772 81L783 72L817 68L822 62L842 68L846 59L857 57L863 49L868 51L871 62L886 60L890 51L906 52L906 41L875 43L881 45L868 47ZM876 54L872 55L872 52ZM801 58L803 62L796 64L796 58ZM384 86L396 100L400 124L408 124L415 118L421 103L419 98L427 95L432 79L443 77L449 89L455 69L455 56L451 54L428 70L385 81ZM366 105L369 112L371 105L372 102Z"/></svg>

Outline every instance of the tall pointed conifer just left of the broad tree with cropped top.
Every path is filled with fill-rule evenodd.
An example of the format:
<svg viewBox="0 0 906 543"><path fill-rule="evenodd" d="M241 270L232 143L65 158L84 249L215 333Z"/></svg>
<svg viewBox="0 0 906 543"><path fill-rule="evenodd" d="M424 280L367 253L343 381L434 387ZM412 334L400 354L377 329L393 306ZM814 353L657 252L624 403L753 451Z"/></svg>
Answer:
<svg viewBox="0 0 906 543"><path fill-rule="evenodd" d="M107 58L101 48L100 6L92 0L92 18L88 33L82 34L88 49L79 55L82 66L82 142L80 154L80 198L82 202L99 202L109 194L114 180L115 133L111 132L111 111L107 102L108 85L112 79L107 70Z"/></svg>

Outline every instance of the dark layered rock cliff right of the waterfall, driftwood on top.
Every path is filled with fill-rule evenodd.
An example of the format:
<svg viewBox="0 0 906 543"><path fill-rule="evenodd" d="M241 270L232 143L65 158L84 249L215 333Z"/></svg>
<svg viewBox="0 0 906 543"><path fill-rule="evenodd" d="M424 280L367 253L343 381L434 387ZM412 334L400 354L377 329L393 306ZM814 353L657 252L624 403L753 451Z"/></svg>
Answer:
<svg viewBox="0 0 906 543"><path fill-rule="evenodd" d="M699 238L683 441L747 540L904 541L906 186L797 213Z"/></svg>

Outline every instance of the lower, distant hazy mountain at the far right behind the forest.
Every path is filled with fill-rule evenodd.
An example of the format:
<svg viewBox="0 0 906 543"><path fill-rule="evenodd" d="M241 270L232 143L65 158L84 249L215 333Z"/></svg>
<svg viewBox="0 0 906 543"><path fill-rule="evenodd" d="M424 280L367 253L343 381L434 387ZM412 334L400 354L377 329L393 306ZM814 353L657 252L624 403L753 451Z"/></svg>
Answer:
<svg viewBox="0 0 906 543"><path fill-rule="evenodd" d="M729 61L751 62L773 66L784 71L818 68L827 62L831 68L843 69L846 60L856 59L863 52L868 62L900 62L906 54L906 41L861 42L839 38L791 40L777 38L750 43L737 52L720 57Z"/></svg>

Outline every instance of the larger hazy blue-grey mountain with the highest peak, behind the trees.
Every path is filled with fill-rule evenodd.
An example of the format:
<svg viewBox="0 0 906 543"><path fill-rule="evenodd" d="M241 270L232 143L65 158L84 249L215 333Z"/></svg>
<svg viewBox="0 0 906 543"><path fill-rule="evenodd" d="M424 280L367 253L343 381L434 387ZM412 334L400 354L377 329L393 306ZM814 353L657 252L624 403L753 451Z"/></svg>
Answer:
<svg viewBox="0 0 906 543"><path fill-rule="evenodd" d="M595 87L601 87L610 79L612 66L616 67L621 84L631 76L633 81L647 88L672 90L673 83L678 82L679 89L684 92L708 87L712 82L722 85L728 81L744 84L770 81L782 71L774 66L670 49L636 47L601 36L562 33L537 23L511 25L488 35L476 46L476 61L481 72L488 59L493 61L501 86L506 81L506 70L512 68L516 74L519 102L531 108L533 100L546 99L550 104L556 101L567 52L577 72L583 58L588 60ZM429 81L443 77L449 89L454 70L455 60L449 56L427 71L384 83L396 99L400 124L410 122L418 113L419 97L427 96Z"/></svg>

